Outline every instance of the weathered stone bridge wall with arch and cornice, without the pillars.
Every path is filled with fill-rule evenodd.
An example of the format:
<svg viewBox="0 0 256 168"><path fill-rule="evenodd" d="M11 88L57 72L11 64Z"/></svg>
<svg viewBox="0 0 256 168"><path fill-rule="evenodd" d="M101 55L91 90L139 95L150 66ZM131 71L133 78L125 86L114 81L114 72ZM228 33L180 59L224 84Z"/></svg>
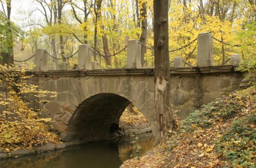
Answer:
<svg viewBox="0 0 256 168"><path fill-rule="evenodd" d="M154 104L154 68L53 70L28 72L33 83L57 97L39 105L47 109L53 129L65 141L111 139L119 118L133 103L158 134ZM236 66L171 67L170 104L183 119L237 89L242 74Z"/></svg>

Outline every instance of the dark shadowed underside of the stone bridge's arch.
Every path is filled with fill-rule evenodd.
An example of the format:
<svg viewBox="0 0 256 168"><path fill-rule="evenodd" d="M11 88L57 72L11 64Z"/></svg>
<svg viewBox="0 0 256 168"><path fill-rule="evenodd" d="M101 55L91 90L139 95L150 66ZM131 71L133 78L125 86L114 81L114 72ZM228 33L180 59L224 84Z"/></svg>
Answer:
<svg viewBox="0 0 256 168"><path fill-rule="evenodd" d="M76 108L67 136L84 141L113 139L113 129L118 128L120 116L130 103L134 102L115 93L98 93L87 98ZM154 127L154 118L147 119Z"/></svg>

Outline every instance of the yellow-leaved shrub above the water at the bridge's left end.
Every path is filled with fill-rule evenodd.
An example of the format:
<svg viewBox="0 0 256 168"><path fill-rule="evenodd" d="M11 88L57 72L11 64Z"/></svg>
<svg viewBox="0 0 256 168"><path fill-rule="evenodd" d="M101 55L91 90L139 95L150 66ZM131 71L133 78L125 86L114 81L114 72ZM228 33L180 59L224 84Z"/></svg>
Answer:
<svg viewBox="0 0 256 168"><path fill-rule="evenodd" d="M30 95L35 97L36 102L37 98L42 99L54 93L27 84L28 78L23 68L0 65L0 85L6 88L0 97L0 106L4 108L0 112L0 151L31 149L37 145L58 141L58 137L49 132L49 127L44 124L50 120L40 118L39 109L29 108L32 102L22 99Z"/></svg>

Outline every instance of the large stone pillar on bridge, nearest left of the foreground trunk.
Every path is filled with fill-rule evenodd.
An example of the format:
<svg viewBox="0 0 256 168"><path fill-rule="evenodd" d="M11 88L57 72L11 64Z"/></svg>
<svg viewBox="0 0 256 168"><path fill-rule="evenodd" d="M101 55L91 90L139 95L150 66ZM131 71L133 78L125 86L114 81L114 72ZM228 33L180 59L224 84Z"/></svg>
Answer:
<svg viewBox="0 0 256 168"><path fill-rule="evenodd" d="M141 44L138 40L129 40L127 44L127 68L141 68Z"/></svg>

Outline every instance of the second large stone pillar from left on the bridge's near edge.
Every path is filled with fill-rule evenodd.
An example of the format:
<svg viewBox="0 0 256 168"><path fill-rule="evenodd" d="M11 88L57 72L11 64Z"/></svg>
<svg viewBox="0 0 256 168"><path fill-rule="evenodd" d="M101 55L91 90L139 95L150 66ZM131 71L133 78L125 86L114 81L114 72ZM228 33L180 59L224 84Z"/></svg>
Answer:
<svg viewBox="0 0 256 168"><path fill-rule="evenodd" d="M78 48L78 69L92 70L92 51L90 45L82 44Z"/></svg>

